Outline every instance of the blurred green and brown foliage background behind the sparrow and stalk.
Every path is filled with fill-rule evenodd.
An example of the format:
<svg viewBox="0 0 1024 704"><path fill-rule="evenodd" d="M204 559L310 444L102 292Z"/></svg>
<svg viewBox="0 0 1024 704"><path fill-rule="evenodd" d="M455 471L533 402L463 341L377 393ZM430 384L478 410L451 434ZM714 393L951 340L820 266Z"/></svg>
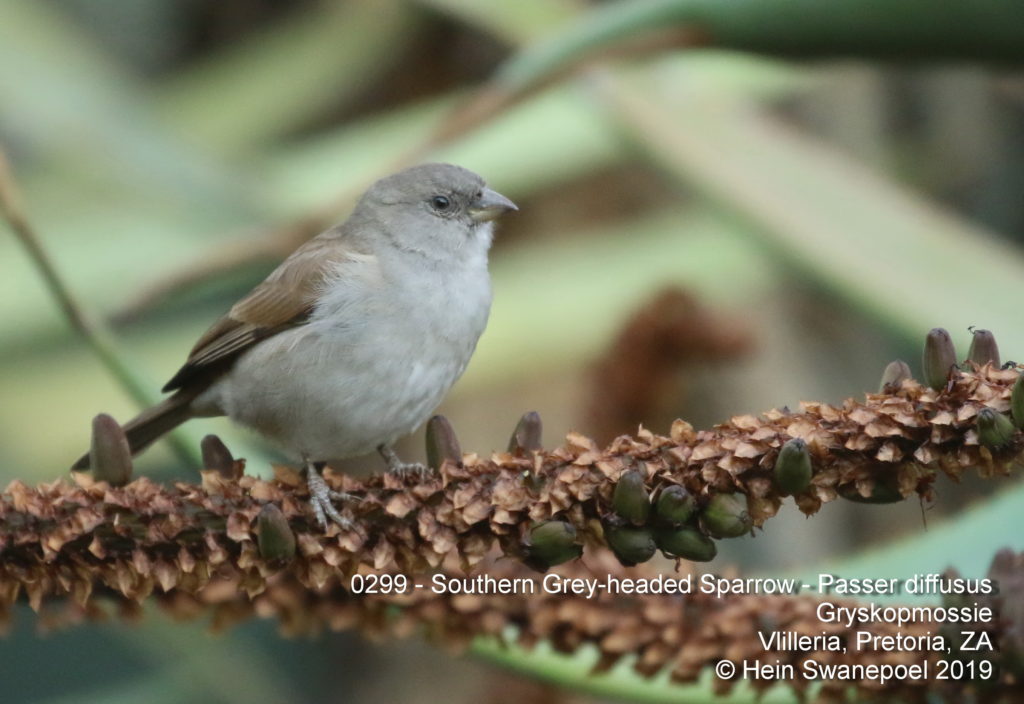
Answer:
<svg viewBox="0 0 1024 704"><path fill-rule="evenodd" d="M462 124L458 106L519 49L626 4L5 0L0 143L57 269L154 396L236 298L438 125L452 134L415 161L461 164L520 207L495 244L488 328L441 409L467 451L503 449L526 410L555 445L859 398L893 359L916 371L937 325L962 356L978 325L1024 358L1024 74L640 33L628 59L566 60ZM51 481L95 413L137 406L0 229L0 483ZM250 472L276 458L222 421L188 424L184 442L207 433ZM400 451L422 458L422 438ZM166 442L137 469L198 477ZM839 558L1009 484L829 504L810 530L787 504L714 568ZM979 560L998 544L975 545ZM586 701L417 639L285 641L272 623L211 636L156 613L41 626L25 609L0 640L5 702Z"/></svg>

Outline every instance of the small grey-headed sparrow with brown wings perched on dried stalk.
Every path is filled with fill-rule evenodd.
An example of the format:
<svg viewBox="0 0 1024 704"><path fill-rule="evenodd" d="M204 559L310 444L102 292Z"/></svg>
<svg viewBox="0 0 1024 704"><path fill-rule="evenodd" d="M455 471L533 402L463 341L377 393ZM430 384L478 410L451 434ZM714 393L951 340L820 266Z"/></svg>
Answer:
<svg viewBox="0 0 1024 704"><path fill-rule="evenodd" d="M170 396L124 426L133 455L180 424L226 415L302 463L322 529L351 526L321 471L392 449L462 376L490 310L495 221L516 205L468 169L382 178L348 219L300 246L196 342ZM72 468L89 469L85 454Z"/></svg>

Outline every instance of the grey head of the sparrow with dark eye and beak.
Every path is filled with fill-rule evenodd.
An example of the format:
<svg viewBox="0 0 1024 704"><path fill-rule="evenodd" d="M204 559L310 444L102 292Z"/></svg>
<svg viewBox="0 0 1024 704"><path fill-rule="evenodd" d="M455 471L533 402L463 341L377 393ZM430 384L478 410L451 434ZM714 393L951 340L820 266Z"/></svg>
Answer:
<svg viewBox="0 0 1024 704"><path fill-rule="evenodd" d="M490 246L493 221L514 203L468 169L423 164L382 178L364 193L353 217L396 248L445 260Z"/></svg>

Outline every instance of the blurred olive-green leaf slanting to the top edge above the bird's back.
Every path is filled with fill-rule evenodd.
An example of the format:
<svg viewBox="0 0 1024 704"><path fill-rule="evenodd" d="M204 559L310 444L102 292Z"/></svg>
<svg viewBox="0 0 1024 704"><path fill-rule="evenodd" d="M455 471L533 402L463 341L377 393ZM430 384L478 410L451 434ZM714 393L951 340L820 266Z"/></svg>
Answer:
<svg viewBox="0 0 1024 704"><path fill-rule="evenodd" d="M219 152L264 146L373 92L403 56L418 17L398 0L313 3L177 74L155 97L157 109Z"/></svg>

